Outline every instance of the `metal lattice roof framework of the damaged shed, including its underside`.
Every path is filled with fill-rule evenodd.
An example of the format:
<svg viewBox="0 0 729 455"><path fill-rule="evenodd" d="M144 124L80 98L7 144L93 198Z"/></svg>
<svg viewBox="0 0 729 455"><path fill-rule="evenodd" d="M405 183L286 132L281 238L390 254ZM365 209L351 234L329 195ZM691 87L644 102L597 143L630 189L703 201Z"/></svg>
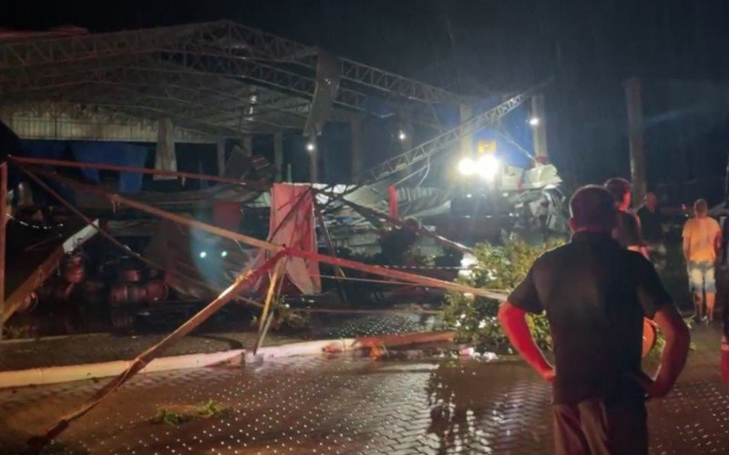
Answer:
<svg viewBox="0 0 729 455"><path fill-rule="evenodd" d="M210 136L301 129L314 96L320 51L231 22L99 35L0 36L0 105L93 106L167 116ZM433 106L469 100L347 59L332 117L373 100L436 123Z"/></svg>

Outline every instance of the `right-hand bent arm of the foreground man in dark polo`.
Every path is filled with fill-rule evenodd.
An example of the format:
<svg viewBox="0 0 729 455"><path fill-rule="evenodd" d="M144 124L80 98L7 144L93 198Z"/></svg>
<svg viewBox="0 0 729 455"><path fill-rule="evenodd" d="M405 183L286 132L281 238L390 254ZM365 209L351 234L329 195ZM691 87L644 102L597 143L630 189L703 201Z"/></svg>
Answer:
<svg viewBox="0 0 729 455"><path fill-rule="evenodd" d="M642 386L651 398L663 398L673 389L678 375L686 364L691 346L691 335L674 305L664 305L653 317L665 336L661 352L661 365L654 379L643 378Z"/></svg>

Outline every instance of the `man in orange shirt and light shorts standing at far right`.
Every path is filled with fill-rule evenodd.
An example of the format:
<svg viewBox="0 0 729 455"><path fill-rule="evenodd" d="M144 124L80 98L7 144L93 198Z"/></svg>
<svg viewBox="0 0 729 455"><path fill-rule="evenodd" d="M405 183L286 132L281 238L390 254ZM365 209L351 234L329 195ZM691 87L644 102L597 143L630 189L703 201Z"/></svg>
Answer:
<svg viewBox="0 0 729 455"><path fill-rule="evenodd" d="M712 217L706 201L699 199L693 205L696 217L686 221L683 227L683 258L688 267L689 285L696 306L696 317L703 322L714 320L714 301L716 299L716 282L714 280L714 262L716 251L722 244L722 228ZM704 298L706 295L703 314Z"/></svg>

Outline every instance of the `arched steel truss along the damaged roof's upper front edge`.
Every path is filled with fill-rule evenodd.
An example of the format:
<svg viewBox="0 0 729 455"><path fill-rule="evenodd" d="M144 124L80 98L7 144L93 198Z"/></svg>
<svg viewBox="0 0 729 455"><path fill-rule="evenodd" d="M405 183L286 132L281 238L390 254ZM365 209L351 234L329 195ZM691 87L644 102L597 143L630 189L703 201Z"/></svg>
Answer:
<svg viewBox="0 0 729 455"><path fill-rule="evenodd" d="M0 43L0 80L33 76L46 69L108 66L128 56L154 56L181 68L244 78L311 98L319 51L231 22L182 25L101 35L26 39ZM397 102L462 104L471 101L447 90L340 59L342 86L337 103L362 109L366 96ZM158 66L159 67L159 66ZM22 84L22 83L21 83Z"/></svg>

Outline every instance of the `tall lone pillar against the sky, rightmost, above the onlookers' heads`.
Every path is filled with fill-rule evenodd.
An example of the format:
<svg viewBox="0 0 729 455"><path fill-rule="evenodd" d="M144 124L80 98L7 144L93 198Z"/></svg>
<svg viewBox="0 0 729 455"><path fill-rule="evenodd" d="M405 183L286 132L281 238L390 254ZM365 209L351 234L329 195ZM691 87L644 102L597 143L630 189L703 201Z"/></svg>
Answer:
<svg viewBox="0 0 729 455"><path fill-rule="evenodd" d="M639 204L647 191L641 81L637 77L631 77L625 81L624 86L625 102L628 106L628 141L631 147L632 200Z"/></svg>

